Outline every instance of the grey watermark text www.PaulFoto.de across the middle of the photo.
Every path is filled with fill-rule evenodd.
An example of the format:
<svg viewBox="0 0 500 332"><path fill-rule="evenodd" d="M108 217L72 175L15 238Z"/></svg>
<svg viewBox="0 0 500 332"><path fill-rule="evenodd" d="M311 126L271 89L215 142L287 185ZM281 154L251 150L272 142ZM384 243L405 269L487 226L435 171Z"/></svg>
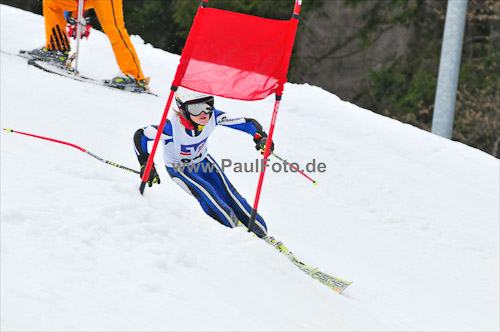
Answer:
<svg viewBox="0 0 500 332"><path fill-rule="evenodd" d="M196 164L174 164L173 165L176 172L188 171L188 172L213 172L216 171L216 166L209 163L196 163ZM255 159L253 162L233 162L231 159L222 159L220 168L222 172L226 172L228 169L234 173L259 173L267 168L275 173L297 173L299 170L301 172L309 173L324 173L326 172L326 164L323 162L317 162L316 159L305 164L305 167L301 167L299 163L287 162L286 160L281 162L275 162L270 159Z"/></svg>

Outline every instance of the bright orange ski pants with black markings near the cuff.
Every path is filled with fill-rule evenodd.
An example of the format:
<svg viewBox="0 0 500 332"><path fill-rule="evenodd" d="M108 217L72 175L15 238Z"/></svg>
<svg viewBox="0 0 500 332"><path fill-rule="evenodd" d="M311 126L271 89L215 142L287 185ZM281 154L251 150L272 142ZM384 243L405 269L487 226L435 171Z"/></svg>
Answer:
<svg viewBox="0 0 500 332"><path fill-rule="evenodd" d="M94 8L99 23L111 42L120 70L138 80L144 79L139 58L125 29L122 0L86 0L84 9L90 8ZM43 0L43 16L45 17L47 37L45 47L48 49L70 50L66 35L65 11L73 12L73 17L76 17L78 2L76 0Z"/></svg>

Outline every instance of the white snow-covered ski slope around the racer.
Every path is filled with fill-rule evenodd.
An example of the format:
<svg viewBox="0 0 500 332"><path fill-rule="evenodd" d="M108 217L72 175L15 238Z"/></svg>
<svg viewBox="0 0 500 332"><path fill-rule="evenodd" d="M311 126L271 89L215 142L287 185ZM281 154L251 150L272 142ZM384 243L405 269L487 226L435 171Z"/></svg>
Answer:
<svg viewBox="0 0 500 332"><path fill-rule="evenodd" d="M44 41L43 18L0 5L2 128L82 146L138 169L135 130L160 121L179 56L132 41L159 97L47 74L11 55ZM80 71L118 71L107 37L81 43ZM273 98L216 107L268 127ZM169 180L81 151L1 135L1 329L9 331L498 331L499 160L287 84L276 153L326 172L319 186L266 173L259 212L304 262L353 280L342 295L242 229L206 216ZM219 128L216 158L254 162ZM161 154L156 163L161 165ZM258 173L227 175L253 202Z"/></svg>

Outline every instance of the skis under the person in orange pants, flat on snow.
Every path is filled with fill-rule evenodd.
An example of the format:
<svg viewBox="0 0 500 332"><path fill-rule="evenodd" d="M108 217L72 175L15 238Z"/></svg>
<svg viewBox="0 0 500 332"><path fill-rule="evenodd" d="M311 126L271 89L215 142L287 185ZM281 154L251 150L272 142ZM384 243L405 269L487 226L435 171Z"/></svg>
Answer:
<svg viewBox="0 0 500 332"><path fill-rule="evenodd" d="M6 53L6 52L4 52L4 53ZM148 94L148 95L158 97L157 94L152 93L151 91L148 91L148 90L146 90L146 91L132 91L132 90L127 90L127 89L122 89L122 88L111 86L110 80L100 81L100 80L96 80L94 78L83 76L80 73L78 73L78 71L75 72L75 68L73 68L71 66L71 60L69 61L69 64L67 64L66 66L59 66L59 65L47 62L47 61L33 59L29 55L29 52L25 51L25 50L19 51L18 55L22 58L27 59L28 65L33 66L35 68L38 68L40 70L43 70L44 72L47 72L47 73L70 78L70 79L73 79L73 80L79 81L79 82L86 82L86 83L95 84L95 85L99 85L99 86L105 86L105 87L111 88L113 90L129 91L129 92Z"/></svg>

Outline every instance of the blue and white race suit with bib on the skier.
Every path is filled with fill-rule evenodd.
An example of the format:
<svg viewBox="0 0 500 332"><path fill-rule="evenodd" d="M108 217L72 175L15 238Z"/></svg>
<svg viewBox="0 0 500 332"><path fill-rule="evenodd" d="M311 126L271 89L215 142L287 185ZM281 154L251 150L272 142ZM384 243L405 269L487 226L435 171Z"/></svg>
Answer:
<svg viewBox="0 0 500 332"><path fill-rule="evenodd" d="M232 186L221 167L210 156L207 140L218 126L240 130L254 138L267 136L254 119L231 117L214 110L205 126L190 125L181 116L167 120L159 144L163 145L163 159L167 172L174 182L196 197L206 214L227 227L236 227L238 221L248 226L251 206ZM136 154L148 153L147 142L155 139L157 126L147 126L136 131ZM183 166L183 167L181 167ZM267 234L264 219L257 214L255 234Z"/></svg>

